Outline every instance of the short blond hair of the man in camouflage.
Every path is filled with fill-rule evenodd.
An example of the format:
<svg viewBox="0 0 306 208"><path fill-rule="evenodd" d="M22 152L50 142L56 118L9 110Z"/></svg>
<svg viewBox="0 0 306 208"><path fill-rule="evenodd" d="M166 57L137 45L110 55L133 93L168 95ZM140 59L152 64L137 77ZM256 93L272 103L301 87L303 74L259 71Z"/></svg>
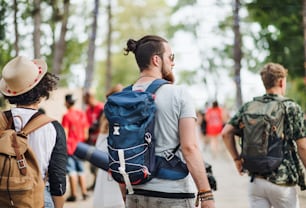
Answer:
<svg viewBox="0 0 306 208"><path fill-rule="evenodd" d="M262 82L266 89L275 87L279 79L287 77L288 70L276 63L267 63L260 71Z"/></svg>

